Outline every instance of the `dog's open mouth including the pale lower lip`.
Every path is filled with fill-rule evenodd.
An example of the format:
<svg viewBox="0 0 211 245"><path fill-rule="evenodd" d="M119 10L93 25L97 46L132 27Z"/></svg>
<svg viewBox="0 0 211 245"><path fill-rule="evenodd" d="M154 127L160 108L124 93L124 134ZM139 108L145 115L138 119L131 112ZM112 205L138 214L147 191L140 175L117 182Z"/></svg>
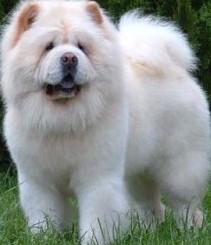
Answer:
<svg viewBox="0 0 211 245"><path fill-rule="evenodd" d="M45 92L52 99L73 98L78 95L80 90L81 86L75 83L71 74L66 75L62 81L56 85L45 85Z"/></svg>

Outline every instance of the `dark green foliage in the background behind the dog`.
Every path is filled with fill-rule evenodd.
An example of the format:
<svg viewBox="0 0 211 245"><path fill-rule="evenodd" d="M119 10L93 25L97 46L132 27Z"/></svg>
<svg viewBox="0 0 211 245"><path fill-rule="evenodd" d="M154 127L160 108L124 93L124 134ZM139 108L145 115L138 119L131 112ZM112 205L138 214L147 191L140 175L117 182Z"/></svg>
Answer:
<svg viewBox="0 0 211 245"><path fill-rule="evenodd" d="M11 11L17 0L0 1L0 22ZM199 69L196 76L205 91L211 96L211 1L210 0L98 0L114 20L124 12L139 8L146 14L164 16L179 24L199 57ZM0 106L0 119L2 106ZM0 170L8 165L0 130ZM4 164L3 164L4 162Z"/></svg>

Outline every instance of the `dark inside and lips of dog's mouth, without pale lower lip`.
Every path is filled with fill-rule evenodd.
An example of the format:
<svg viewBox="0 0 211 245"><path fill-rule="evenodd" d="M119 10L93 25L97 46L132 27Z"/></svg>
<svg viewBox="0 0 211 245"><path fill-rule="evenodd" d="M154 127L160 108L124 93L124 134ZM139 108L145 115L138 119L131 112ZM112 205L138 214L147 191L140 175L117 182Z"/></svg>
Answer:
<svg viewBox="0 0 211 245"><path fill-rule="evenodd" d="M52 85L45 84L45 91L48 96L53 96L56 93L64 93L66 95L75 92L76 94L80 91L81 86L77 85L71 74L67 74L63 77L60 83Z"/></svg>

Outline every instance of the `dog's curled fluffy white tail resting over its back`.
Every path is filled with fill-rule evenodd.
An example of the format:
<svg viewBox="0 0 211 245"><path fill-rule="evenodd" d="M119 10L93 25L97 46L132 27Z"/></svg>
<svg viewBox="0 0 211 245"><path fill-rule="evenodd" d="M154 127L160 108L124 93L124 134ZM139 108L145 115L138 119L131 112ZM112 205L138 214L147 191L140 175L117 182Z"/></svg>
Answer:
<svg viewBox="0 0 211 245"><path fill-rule="evenodd" d="M172 23L129 12L120 20L119 33L122 49L132 62L160 71L172 66L186 71L196 68L186 36Z"/></svg>

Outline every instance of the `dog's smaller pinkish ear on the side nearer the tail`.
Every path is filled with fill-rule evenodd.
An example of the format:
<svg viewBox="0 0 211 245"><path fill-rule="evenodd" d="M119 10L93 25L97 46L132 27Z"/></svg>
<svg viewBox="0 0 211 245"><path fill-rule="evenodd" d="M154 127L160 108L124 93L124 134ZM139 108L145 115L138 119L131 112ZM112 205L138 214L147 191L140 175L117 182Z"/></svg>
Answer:
<svg viewBox="0 0 211 245"><path fill-rule="evenodd" d="M102 24L103 22L103 13L100 9L98 3L94 1L89 1L86 3L86 10L91 15L94 22L97 24Z"/></svg>

